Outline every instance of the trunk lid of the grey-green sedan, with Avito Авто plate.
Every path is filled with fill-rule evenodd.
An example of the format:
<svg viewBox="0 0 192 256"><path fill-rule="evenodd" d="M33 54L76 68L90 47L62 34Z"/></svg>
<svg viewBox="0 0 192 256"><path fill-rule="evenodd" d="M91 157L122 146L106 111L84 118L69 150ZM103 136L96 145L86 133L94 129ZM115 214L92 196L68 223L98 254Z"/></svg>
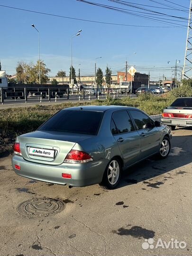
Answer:
<svg viewBox="0 0 192 256"><path fill-rule="evenodd" d="M19 136L21 154L27 161L61 165L73 146L91 135L35 131Z"/></svg>

